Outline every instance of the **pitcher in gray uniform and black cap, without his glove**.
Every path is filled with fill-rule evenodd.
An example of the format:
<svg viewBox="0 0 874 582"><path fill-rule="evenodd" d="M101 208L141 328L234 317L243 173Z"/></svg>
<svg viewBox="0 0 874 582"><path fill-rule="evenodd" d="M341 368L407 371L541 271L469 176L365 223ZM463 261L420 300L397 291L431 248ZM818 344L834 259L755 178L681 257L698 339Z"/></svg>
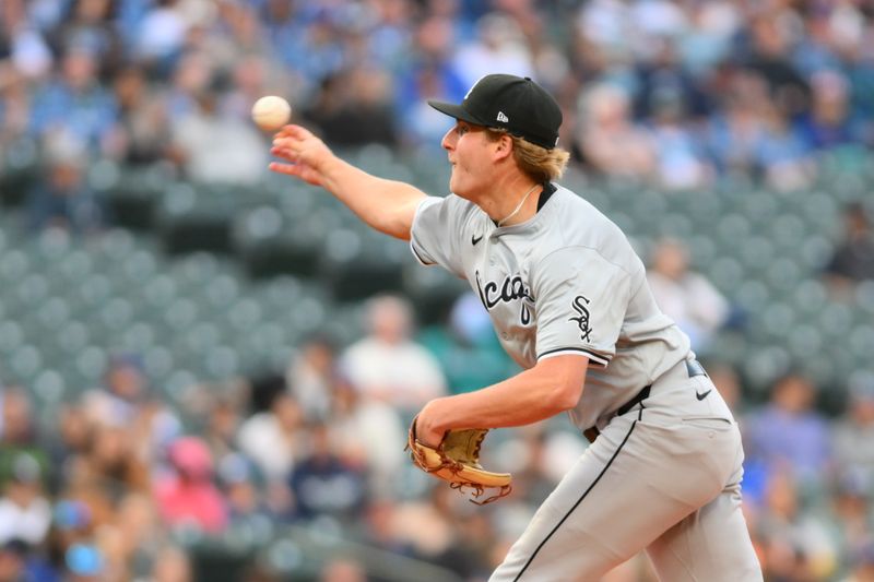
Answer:
<svg viewBox="0 0 874 582"><path fill-rule="evenodd" d="M741 512L737 426L656 305L609 218L555 183L562 112L530 79L481 79L446 133L446 198L368 175L286 126L271 169L323 187L416 259L464 277L524 371L430 401L418 439L511 427L567 411L593 441L538 510L493 582L597 581L646 549L664 581L761 580Z"/></svg>

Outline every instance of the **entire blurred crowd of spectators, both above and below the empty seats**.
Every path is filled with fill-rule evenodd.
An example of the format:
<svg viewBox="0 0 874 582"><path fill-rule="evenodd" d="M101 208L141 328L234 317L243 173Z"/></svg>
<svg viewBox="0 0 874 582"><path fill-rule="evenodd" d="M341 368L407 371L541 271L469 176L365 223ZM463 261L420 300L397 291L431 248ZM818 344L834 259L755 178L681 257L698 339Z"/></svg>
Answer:
<svg viewBox="0 0 874 582"><path fill-rule="evenodd" d="M262 180L268 136L248 117L261 95L288 97L335 147L422 150L438 164L447 120L425 99L459 100L500 71L557 95L560 143L592 175L799 188L818 152L874 141L873 16L861 0L0 0L0 167L31 153L28 223L87 233L111 221L88 180L98 161ZM853 205L846 218L828 265L837 286L874 278L869 215ZM737 372L706 358L737 324L731 298L678 241L649 266L742 423L766 579L874 581L874 379L838 387L837 415L796 372L748 402ZM192 387L181 408L137 354L48 416L29 387L2 387L0 582L196 580L192 539L263 523L485 580L584 441L564 419L495 431L487 462L516 485L486 508L435 486L402 449L412 415L516 368L471 295L440 326L417 329L398 297L367 313L352 345L311 337L282 373ZM365 569L339 557L319 575L357 582ZM280 570L257 556L239 579ZM638 557L610 580L654 579Z"/></svg>

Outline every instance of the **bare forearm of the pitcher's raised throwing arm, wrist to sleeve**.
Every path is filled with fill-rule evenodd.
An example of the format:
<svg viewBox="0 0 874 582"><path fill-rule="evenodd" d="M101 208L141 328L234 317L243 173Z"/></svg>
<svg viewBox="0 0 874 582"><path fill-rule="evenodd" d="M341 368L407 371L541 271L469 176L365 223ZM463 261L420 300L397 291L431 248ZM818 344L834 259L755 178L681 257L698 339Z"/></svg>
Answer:
<svg viewBox="0 0 874 582"><path fill-rule="evenodd" d="M370 227L404 240L416 207L426 194L397 180L378 178L334 157L326 164L323 188Z"/></svg>

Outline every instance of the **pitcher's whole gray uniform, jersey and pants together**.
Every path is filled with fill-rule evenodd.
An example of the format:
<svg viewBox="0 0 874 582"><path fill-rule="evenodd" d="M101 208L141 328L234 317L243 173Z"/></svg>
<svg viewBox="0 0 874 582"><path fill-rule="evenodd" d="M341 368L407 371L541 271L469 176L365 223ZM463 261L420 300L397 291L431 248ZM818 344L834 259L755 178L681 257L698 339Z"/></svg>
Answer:
<svg viewBox="0 0 874 582"><path fill-rule="evenodd" d="M416 258L471 283L522 367L559 354L590 361L570 416L601 435L489 582L597 581L641 549L665 581L760 582L731 411L657 307L619 228L569 190L546 188L519 225L499 228L449 195L424 200L412 227Z"/></svg>

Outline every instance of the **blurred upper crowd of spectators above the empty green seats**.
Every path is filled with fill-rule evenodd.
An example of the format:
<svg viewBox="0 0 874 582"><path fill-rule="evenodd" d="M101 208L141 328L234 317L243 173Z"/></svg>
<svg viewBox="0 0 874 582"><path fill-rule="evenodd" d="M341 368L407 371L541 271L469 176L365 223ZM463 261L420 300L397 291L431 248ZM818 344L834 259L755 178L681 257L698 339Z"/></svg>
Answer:
<svg viewBox="0 0 874 582"><path fill-rule="evenodd" d="M26 144L60 166L33 221L85 228L95 201L63 192L88 161L252 182L264 94L339 147L436 150L447 120L425 99L495 71L557 95L577 163L671 189L803 187L818 152L874 140L860 0L4 0L0 158Z"/></svg>

